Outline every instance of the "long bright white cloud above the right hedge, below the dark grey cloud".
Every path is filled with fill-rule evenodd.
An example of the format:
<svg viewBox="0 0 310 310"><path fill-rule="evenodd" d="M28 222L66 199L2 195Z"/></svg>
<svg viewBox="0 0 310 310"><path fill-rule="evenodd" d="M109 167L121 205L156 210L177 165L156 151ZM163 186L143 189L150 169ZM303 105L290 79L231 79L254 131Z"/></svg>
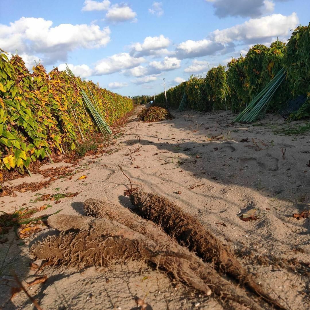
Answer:
<svg viewBox="0 0 310 310"><path fill-rule="evenodd" d="M223 30L215 30L212 33L215 42L266 40L276 36L290 35L290 29L294 29L298 24L296 13L290 16L272 14L261 18L250 19L243 24L233 26Z"/></svg>

